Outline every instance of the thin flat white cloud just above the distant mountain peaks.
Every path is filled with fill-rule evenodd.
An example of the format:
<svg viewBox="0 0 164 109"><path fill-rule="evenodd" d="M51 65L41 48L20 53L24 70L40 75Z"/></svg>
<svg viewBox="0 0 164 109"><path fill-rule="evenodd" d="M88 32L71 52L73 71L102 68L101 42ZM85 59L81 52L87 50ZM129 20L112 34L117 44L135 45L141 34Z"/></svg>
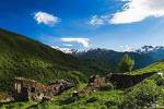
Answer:
<svg viewBox="0 0 164 109"><path fill-rule="evenodd" d="M84 47L89 47L89 38L61 38L65 43L78 43L82 44Z"/></svg>

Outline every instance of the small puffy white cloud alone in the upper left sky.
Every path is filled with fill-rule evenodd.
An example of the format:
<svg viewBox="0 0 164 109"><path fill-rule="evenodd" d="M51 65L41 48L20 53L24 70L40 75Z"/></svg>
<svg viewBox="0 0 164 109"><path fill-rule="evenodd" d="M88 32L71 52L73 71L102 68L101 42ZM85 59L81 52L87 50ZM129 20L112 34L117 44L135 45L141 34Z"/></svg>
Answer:
<svg viewBox="0 0 164 109"><path fill-rule="evenodd" d="M52 26L56 23L60 22L59 17L54 16L54 15L46 13L46 12L42 12L42 11L35 13L34 19L37 21L38 24L43 23L43 24L49 25L49 26Z"/></svg>

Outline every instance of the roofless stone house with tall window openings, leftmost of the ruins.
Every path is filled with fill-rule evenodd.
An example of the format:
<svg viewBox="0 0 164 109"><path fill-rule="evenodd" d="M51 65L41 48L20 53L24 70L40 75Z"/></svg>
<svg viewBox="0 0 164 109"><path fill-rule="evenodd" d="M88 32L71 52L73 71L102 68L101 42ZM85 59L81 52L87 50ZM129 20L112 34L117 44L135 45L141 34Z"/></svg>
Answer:
<svg viewBox="0 0 164 109"><path fill-rule="evenodd" d="M15 77L13 97L15 100L40 101L43 99L51 99L52 93L48 86L34 80Z"/></svg>

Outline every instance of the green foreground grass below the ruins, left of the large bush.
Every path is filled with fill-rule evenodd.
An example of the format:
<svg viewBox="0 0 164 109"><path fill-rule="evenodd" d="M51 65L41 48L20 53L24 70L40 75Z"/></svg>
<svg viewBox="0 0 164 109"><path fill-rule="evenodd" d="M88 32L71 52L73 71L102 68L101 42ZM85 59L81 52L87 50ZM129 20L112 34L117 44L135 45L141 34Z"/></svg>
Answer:
<svg viewBox="0 0 164 109"><path fill-rule="evenodd" d="M113 107L117 107L117 105L122 100L124 93L121 90L95 92L80 98L72 97L72 93L74 90L81 90L85 86L86 84L81 84L78 87L71 88L59 96L55 96L52 101L45 101L40 104L32 101L12 102L9 105L3 105L1 108L9 109L9 107L12 107L12 109L95 109L96 107L96 109L107 109L109 105L113 105ZM93 98L95 98L95 100Z"/></svg>

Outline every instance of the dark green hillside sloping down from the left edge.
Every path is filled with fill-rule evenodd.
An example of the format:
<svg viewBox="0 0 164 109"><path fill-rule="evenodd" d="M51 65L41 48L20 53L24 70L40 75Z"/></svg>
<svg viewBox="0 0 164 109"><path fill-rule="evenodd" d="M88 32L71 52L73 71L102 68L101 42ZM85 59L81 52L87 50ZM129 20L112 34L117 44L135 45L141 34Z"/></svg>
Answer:
<svg viewBox="0 0 164 109"><path fill-rule="evenodd" d="M80 60L25 36L0 29L0 90L11 90L15 76L47 83L57 78L85 81L108 66ZM77 72L78 71L78 72Z"/></svg>

